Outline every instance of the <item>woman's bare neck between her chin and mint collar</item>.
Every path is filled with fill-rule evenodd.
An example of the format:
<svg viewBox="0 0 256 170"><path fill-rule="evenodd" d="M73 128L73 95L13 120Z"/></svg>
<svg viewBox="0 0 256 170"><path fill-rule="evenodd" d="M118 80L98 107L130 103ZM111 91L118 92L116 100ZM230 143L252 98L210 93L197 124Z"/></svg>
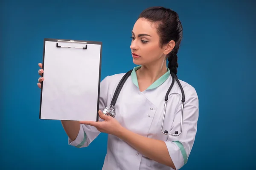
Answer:
<svg viewBox="0 0 256 170"><path fill-rule="evenodd" d="M136 71L137 78L153 83L167 72L166 60L161 63L150 65L141 65L141 68Z"/></svg>

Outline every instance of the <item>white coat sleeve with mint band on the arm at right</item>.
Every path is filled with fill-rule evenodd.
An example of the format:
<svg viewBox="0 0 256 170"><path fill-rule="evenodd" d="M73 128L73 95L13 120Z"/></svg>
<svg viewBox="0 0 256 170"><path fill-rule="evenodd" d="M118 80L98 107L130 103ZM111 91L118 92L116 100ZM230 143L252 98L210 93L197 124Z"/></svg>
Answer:
<svg viewBox="0 0 256 170"><path fill-rule="evenodd" d="M181 103L181 102L180 102ZM193 87L185 91L185 102L183 108L183 129L180 136L168 136L166 146L169 155L176 167L180 169L188 161L189 154L195 141L198 122L198 95ZM172 132L180 132L181 105L175 113Z"/></svg>

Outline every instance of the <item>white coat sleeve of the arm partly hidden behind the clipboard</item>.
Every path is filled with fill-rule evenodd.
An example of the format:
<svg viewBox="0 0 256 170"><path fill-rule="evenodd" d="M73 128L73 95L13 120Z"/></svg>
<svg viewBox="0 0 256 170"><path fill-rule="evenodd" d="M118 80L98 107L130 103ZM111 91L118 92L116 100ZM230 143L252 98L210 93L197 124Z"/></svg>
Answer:
<svg viewBox="0 0 256 170"><path fill-rule="evenodd" d="M108 76L109 77L109 76ZM107 106L108 96L108 77L102 80L100 83L100 95L99 95L99 109L103 111ZM99 121L103 121L99 117ZM74 147L87 147L97 136L99 136L99 130L96 127L90 125L80 124L79 133L74 141L68 138L68 144Z"/></svg>

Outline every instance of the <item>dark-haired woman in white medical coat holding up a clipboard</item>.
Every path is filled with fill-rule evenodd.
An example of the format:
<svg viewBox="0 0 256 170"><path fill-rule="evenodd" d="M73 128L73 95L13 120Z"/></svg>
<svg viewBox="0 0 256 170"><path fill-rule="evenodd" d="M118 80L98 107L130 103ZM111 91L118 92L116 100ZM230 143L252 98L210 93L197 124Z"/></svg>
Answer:
<svg viewBox="0 0 256 170"><path fill-rule="evenodd" d="M186 164L195 141L198 96L180 80L185 94L183 130L179 136L161 131L165 95L177 74L177 52L182 26L175 11L163 7L145 9L132 30L131 53L134 68L116 101L115 118L102 113L110 105L124 74L105 77L101 82L99 122L61 121L69 144L87 147L100 132L108 133L104 170L170 170ZM166 60L168 59L168 67ZM42 64L39 66L42 68ZM39 70L42 75L44 71ZM38 87L44 77L39 79ZM175 81L168 96L163 131L180 132L182 93Z"/></svg>

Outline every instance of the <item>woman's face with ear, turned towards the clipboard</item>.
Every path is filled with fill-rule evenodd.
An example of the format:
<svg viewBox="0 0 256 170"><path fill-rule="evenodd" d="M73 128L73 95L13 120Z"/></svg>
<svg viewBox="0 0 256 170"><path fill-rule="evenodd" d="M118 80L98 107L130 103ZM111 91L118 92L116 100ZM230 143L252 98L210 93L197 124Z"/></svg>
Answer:
<svg viewBox="0 0 256 170"><path fill-rule="evenodd" d="M132 30L131 52L136 65L151 65L163 61L168 54L169 45L160 48L160 37L156 24L139 18Z"/></svg>

